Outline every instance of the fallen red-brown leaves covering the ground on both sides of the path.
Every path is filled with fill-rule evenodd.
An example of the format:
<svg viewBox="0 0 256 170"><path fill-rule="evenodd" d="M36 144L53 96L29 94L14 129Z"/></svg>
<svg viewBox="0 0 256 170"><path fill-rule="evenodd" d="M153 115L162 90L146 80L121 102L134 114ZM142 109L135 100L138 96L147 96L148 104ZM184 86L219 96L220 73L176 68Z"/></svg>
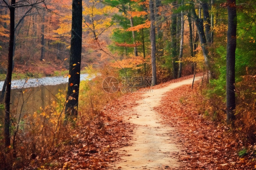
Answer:
<svg viewBox="0 0 256 170"><path fill-rule="evenodd" d="M184 77L180 80L191 78ZM161 88L173 80L153 89ZM191 90L184 85L164 95L160 107L154 108L164 124L174 127L176 143L181 145L180 169L184 170L254 170L256 168L255 145L243 152L241 141L224 123L216 123L199 114L199 83ZM129 140L134 125L123 120L124 110L128 112L139 100L140 94L128 94L104 107L99 119L84 122L83 128L74 131L72 140L65 147L64 154L56 155L56 169L111 169L109 165L119 160L117 150L131 145ZM242 151L241 151L242 150ZM240 152L239 152L240 151ZM62 153L62 152L61 152ZM54 159L55 160L55 159ZM49 167L47 165L46 167ZM46 167L42 166L42 169Z"/></svg>

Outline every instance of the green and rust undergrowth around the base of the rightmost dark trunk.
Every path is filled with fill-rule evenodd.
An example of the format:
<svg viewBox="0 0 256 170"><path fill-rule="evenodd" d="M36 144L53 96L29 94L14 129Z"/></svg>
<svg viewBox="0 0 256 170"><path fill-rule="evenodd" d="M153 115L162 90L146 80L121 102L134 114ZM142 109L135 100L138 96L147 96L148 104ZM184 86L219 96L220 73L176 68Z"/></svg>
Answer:
<svg viewBox="0 0 256 170"><path fill-rule="evenodd" d="M225 85L210 86L204 81L195 101L202 116L227 126L237 142L247 147L256 144L256 76L245 75L240 80L236 83L235 127L226 124Z"/></svg>

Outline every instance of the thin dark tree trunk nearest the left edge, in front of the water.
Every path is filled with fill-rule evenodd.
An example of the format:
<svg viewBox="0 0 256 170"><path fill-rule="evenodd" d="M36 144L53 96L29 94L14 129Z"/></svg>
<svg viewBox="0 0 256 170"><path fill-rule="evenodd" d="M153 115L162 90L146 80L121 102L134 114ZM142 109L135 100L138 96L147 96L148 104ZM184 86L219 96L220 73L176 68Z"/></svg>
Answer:
<svg viewBox="0 0 256 170"><path fill-rule="evenodd" d="M15 0L11 0L10 9L10 40L8 51L8 67L6 74L6 92L5 92L5 147L10 146L10 89L12 75L13 45L15 34Z"/></svg>

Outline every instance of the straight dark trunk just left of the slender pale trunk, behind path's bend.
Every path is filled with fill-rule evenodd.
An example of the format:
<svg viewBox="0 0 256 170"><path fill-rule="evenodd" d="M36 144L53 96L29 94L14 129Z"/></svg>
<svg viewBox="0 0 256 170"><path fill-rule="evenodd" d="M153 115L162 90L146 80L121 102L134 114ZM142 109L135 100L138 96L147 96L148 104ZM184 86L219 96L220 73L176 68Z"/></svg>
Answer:
<svg viewBox="0 0 256 170"><path fill-rule="evenodd" d="M173 5L176 5L176 2L173 3ZM178 51L177 51L177 14L172 14L171 16L171 57L172 57L172 63L173 63L173 78L177 78L178 74Z"/></svg>

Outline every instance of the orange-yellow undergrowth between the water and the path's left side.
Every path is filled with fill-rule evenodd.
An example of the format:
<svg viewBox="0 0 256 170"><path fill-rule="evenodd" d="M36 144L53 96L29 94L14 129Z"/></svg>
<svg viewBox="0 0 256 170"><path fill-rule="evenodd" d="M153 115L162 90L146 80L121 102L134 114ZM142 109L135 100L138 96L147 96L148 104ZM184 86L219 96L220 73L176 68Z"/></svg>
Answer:
<svg viewBox="0 0 256 170"><path fill-rule="evenodd" d="M94 79L82 81L80 84L79 115L75 118L75 125L70 122L64 125L66 95L64 91L60 91L55 95L55 100L49 100L49 105L40 107L34 113L11 114L11 145L9 149L5 149L4 114L0 115L0 169L62 168L64 165L58 162L58 158L68 146L76 144L79 131L87 127L85 133L90 134L92 122L98 125L98 129L93 130L104 131L101 110L104 105L122 94L106 93L102 89L102 81L109 75L117 78L118 75L108 67L97 71L89 67L86 72ZM24 93L26 91L21 90L20 95ZM84 145L89 146L91 143L88 137Z"/></svg>

